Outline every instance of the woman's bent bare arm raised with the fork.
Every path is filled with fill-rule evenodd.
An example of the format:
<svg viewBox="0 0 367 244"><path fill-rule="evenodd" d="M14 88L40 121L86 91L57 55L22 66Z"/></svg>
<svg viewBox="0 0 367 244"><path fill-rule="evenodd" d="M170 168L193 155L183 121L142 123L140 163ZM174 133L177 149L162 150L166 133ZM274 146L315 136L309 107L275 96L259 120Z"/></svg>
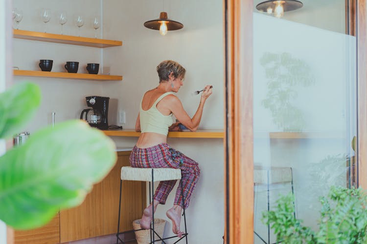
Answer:
<svg viewBox="0 0 367 244"><path fill-rule="evenodd" d="M186 126L189 130L196 131L199 127L199 123L203 115L203 109L204 109L204 104L206 102L206 99L211 94L212 94L212 90L210 88L210 85L207 85L201 95L198 109L196 110L196 113L194 114L192 118L188 116L188 114L184 110L184 107L181 101L176 96L175 98L172 99L173 101L171 101L170 109L178 121L184 124L184 126Z"/></svg>

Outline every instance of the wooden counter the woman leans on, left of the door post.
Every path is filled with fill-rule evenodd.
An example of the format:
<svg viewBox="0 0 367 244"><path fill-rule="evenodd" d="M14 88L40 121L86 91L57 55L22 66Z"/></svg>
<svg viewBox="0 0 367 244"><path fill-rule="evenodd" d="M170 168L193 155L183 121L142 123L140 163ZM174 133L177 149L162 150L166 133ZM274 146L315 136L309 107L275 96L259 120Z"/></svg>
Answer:
<svg viewBox="0 0 367 244"><path fill-rule="evenodd" d="M107 136L118 137L139 137L140 132L136 132L134 129L123 130L104 130ZM197 130L196 132L184 132L184 131L170 131L168 132L170 138L224 138L223 130Z"/></svg>

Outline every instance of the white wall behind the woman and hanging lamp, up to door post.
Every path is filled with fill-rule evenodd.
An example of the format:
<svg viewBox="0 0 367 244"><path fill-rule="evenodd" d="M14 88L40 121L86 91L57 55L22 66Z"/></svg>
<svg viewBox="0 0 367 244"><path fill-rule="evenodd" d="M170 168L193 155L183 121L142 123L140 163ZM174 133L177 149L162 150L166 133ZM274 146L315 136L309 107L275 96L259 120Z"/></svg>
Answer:
<svg viewBox="0 0 367 244"><path fill-rule="evenodd" d="M201 129L224 127L224 23L221 0L164 1L168 18L180 21L184 28L161 36L143 23L157 19L161 0L105 0L103 2L104 37L122 40L122 49L104 50L104 65L111 73L121 73L122 82L103 86L105 96L118 99L118 109L126 112L124 128L134 128L138 106L145 91L158 85L157 65L167 59L186 68L184 86L177 96L189 115L193 115L199 96L192 91L213 84L207 100ZM110 111L111 112L111 111ZM117 145L134 145L137 138L114 138ZM168 143L196 160L201 178L187 209L190 243L223 243L224 234L224 149L221 139L168 139ZM172 206L174 192L157 216L168 220L165 211ZM183 226L183 224L182 224ZM165 235L172 225L166 225ZM173 242L169 242L173 243Z"/></svg>

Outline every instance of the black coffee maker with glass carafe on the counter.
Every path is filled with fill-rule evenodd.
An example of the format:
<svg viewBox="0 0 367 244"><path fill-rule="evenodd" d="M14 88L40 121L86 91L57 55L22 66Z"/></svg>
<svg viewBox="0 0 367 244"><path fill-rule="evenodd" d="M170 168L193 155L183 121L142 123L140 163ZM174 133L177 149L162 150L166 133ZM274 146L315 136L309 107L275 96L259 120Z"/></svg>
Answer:
<svg viewBox="0 0 367 244"><path fill-rule="evenodd" d="M101 130L108 129L108 102L110 98L90 96L86 97L87 106L92 107L84 109L80 114L80 119L85 120L92 127L96 127ZM86 114L85 118L84 114Z"/></svg>

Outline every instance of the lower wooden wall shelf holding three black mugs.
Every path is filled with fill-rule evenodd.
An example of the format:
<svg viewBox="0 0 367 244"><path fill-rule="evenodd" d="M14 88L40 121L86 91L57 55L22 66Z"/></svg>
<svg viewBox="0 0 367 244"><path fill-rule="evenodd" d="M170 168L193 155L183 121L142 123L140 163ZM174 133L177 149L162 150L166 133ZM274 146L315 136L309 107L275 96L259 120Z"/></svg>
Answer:
<svg viewBox="0 0 367 244"><path fill-rule="evenodd" d="M78 73L67 73L67 72L47 72L47 71L35 71L35 70L13 70L13 74L15 76L33 76L33 77L48 77L48 78L92 80L92 81L121 81L122 80L122 76L91 75L91 74L78 74Z"/></svg>

